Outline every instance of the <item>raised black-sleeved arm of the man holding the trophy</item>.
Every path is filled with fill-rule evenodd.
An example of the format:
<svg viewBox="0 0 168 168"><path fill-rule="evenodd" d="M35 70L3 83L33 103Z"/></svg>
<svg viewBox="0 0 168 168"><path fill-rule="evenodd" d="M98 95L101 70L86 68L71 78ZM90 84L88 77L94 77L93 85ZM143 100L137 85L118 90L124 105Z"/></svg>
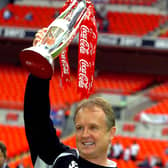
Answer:
<svg viewBox="0 0 168 168"><path fill-rule="evenodd" d="M24 98L24 121L32 162L52 164L63 148L50 119L49 80L29 75Z"/></svg>

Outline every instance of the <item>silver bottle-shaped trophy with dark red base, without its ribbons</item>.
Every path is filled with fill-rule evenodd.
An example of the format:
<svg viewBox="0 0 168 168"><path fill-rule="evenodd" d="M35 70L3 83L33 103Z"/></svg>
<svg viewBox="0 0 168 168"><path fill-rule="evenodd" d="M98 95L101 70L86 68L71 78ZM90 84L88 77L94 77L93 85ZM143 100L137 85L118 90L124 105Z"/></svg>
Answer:
<svg viewBox="0 0 168 168"><path fill-rule="evenodd" d="M85 0L72 1L48 26L44 38L36 46L20 52L22 65L37 77L51 78L54 73L54 59L76 36L86 10Z"/></svg>

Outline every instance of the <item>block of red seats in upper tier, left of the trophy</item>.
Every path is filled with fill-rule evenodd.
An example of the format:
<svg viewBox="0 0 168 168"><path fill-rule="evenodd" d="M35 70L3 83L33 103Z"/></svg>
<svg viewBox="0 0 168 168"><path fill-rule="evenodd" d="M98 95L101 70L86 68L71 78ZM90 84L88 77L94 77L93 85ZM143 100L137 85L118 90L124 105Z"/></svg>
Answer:
<svg viewBox="0 0 168 168"><path fill-rule="evenodd" d="M12 17L8 20L3 18L3 12L6 9L12 13ZM9 4L0 11L0 22L4 26L42 28L48 26L53 21L56 10L54 7ZM32 20L26 20L25 16L30 12L32 13ZM43 14L44 12L45 15Z"/></svg>

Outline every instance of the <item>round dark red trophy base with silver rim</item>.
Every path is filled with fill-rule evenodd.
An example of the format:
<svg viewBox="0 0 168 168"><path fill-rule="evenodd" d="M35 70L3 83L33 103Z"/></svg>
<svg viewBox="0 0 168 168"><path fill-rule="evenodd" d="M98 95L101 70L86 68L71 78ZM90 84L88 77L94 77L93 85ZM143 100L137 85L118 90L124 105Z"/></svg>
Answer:
<svg viewBox="0 0 168 168"><path fill-rule="evenodd" d="M54 73L51 56L41 47L30 47L20 52L21 64L34 76L50 79Z"/></svg>

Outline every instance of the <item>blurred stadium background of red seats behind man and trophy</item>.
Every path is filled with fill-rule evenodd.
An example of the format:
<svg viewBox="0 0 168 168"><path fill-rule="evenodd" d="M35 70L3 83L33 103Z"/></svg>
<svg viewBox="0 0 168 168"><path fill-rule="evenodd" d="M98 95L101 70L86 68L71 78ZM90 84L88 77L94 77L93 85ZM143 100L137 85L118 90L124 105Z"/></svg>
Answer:
<svg viewBox="0 0 168 168"><path fill-rule="evenodd" d="M31 164L23 123L23 98L28 72L19 52L32 45L34 34L59 14L65 1L0 1L0 141L8 148L11 168ZM95 0L99 38L95 87L91 96L111 102L117 134L124 148L136 140L138 161L159 156L168 164L168 1ZM11 12L11 13L9 13ZM77 39L69 46L71 87L62 88L55 60L51 81L51 117L57 134L75 147L72 115L80 97L76 90ZM69 112L69 109L71 112ZM40 116L40 113L39 113ZM116 160L119 168L136 162Z"/></svg>

